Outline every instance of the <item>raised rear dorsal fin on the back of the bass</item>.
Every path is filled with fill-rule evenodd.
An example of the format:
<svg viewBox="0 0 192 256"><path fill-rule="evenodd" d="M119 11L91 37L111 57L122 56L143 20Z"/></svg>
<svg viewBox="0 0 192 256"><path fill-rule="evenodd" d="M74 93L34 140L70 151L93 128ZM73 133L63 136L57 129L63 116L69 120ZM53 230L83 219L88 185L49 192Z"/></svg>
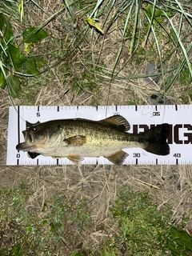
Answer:
<svg viewBox="0 0 192 256"><path fill-rule="evenodd" d="M124 130L124 131L130 130L129 122L126 120L126 118L123 118L119 114L113 115L110 118L102 119L100 122L102 122L108 126L109 125L114 126L115 128L118 128L119 130Z"/></svg>

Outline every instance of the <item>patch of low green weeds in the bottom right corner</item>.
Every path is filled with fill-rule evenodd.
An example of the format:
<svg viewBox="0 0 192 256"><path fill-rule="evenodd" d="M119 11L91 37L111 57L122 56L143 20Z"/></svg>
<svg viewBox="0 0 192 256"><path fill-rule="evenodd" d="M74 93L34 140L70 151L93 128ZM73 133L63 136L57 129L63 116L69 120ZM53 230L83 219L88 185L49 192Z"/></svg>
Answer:
<svg viewBox="0 0 192 256"><path fill-rule="evenodd" d="M120 231L106 241L101 255L191 255L192 238L173 226L170 206L159 212L147 193L125 188L110 211Z"/></svg>

